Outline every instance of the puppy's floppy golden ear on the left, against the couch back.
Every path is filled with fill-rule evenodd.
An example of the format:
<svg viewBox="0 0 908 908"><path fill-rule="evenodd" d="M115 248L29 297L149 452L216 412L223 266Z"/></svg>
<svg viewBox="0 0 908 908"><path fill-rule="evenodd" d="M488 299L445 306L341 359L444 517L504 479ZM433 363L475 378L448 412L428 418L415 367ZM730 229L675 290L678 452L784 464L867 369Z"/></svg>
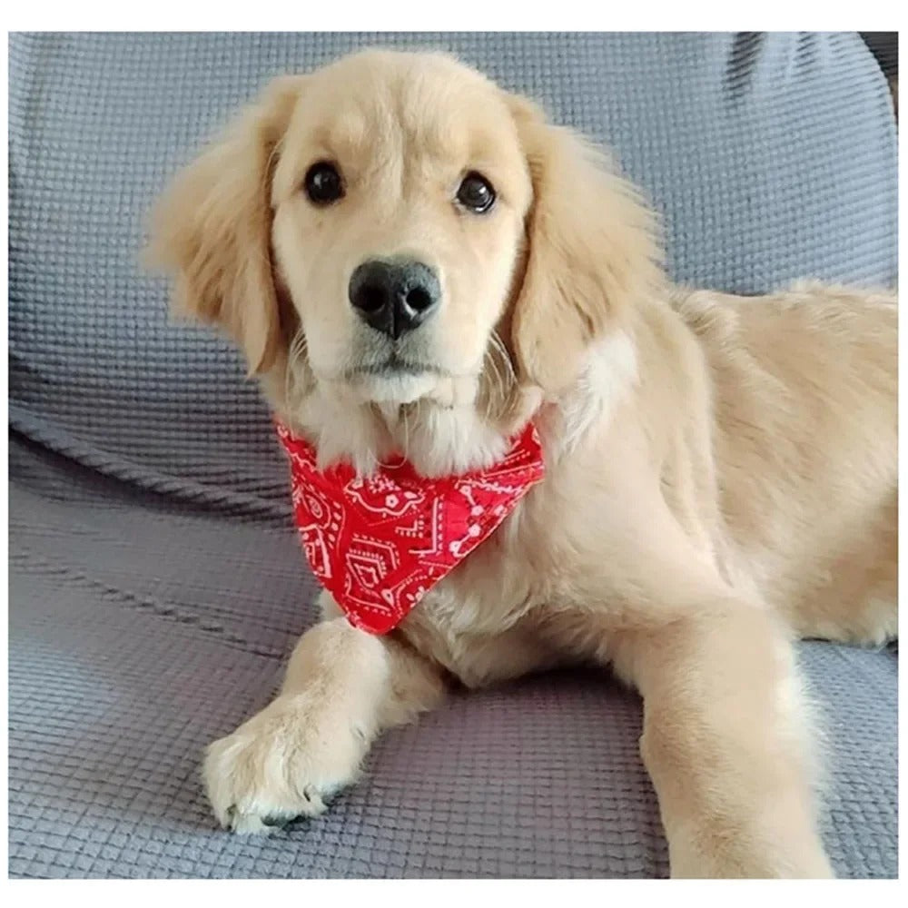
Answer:
<svg viewBox="0 0 908 908"><path fill-rule="evenodd" d="M175 275L173 310L220 325L249 374L284 340L271 266L271 173L304 76L272 82L155 207L146 261Z"/></svg>

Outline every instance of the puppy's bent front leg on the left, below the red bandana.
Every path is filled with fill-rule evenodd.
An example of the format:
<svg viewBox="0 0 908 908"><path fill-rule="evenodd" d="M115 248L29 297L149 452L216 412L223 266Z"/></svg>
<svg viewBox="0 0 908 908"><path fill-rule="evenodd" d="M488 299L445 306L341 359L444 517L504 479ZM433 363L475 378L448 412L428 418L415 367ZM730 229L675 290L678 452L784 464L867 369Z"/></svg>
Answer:
<svg viewBox="0 0 908 908"><path fill-rule="evenodd" d="M328 597L322 605L337 614ZM321 814L380 731L443 695L439 671L407 646L343 617L323 620L293 650L280 694L208 748L202 775L215 816L237 833L266 833Z"/></svg>

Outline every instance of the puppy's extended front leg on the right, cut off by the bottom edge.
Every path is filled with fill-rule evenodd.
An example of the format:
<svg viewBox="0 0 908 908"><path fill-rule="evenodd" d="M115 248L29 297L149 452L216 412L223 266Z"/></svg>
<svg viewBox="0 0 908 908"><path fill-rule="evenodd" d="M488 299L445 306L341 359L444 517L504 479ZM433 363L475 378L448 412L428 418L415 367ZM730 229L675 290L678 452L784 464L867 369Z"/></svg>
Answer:
<svg viewBox="0 0 908 908"><path fill-rule="evenodd" d="M644 697L640 748L671 873L831 876L790 644L765 610L714 601L621 635L613 652L618 673Z"/></svg>

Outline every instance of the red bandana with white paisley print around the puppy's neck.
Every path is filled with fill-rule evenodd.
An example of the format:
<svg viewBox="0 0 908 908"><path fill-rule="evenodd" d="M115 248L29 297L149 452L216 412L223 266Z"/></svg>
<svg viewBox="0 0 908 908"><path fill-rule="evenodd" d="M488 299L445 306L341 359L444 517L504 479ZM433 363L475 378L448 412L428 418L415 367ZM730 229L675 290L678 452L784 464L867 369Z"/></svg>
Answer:
<svg viewBox="0 0 908 908"><path fill-rule="evenodd" d="M529 423L504 459L426 479L403 458L368 477L316 468L315 449L278 424L290 455L293 510L316 577L350 624L387 634L429 589L488 539L544 472Z"/></svg>

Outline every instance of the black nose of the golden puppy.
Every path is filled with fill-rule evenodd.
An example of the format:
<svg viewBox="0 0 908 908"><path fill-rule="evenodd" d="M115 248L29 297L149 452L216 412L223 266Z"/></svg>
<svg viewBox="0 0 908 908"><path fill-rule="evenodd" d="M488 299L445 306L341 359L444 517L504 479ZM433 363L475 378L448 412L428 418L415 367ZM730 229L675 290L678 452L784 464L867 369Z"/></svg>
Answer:
<svg viewBox="0 0 908 908"><path fill-rule="evenodd" d="M422 262L375 259L350 277L350 302L360 318L396 341L438 308L439 279Z"/></svg>

